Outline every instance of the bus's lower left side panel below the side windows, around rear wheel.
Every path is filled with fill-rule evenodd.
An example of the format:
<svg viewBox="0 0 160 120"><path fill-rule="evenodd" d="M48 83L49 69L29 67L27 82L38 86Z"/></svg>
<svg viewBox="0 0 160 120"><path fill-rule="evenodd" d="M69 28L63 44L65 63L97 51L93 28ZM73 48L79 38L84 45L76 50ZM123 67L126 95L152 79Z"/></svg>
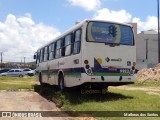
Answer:
<svg viewBox="0 0 160 120"><path fill-rule="evenodd" d="M37 71L39 70L42 73L42 79L44 83L58 85L58 73L59 71L62 71L64 75L64 84L66 87L80 85L81 54L74 55L72 58L65 57L55 59L54 62L44 62L37 68Z"/></svg>

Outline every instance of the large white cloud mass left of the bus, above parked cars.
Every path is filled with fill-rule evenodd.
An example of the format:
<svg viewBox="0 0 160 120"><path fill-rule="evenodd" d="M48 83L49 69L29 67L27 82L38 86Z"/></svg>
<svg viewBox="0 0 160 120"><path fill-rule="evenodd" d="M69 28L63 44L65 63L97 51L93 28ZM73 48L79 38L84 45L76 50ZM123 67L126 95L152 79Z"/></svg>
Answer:
<svg viewBox="0 0 160 120"><path fill-rule="evenodd" d="M60 32L43 23L35 23L30 14L16 17L9 14L5 22L0 22L0 52L4 61L31 61L36 50Z"/></svg>

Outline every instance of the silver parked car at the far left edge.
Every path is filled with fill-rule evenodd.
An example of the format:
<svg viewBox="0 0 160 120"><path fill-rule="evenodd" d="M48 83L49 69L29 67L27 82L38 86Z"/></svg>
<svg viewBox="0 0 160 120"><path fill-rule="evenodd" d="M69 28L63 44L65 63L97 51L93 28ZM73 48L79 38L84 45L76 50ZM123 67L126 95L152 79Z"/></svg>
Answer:
<svg viewBox="0 0 160 120"><path fill-rule="evenodd" d="M23 77L24 73L21 69L10 69L8 72L1 73L0 76Z"/></svg>

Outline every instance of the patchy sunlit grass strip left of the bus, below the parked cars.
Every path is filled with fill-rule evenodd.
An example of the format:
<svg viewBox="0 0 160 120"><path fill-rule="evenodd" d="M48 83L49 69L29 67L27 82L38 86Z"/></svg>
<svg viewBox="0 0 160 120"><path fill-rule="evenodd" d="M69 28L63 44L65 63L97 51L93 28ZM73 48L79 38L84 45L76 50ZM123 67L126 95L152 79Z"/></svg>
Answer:
<svg viewBox="0 0 160 120"><path fill-rule="evenodd" d="M33 89L35 77L0 77L0 90Z"/></svg>

